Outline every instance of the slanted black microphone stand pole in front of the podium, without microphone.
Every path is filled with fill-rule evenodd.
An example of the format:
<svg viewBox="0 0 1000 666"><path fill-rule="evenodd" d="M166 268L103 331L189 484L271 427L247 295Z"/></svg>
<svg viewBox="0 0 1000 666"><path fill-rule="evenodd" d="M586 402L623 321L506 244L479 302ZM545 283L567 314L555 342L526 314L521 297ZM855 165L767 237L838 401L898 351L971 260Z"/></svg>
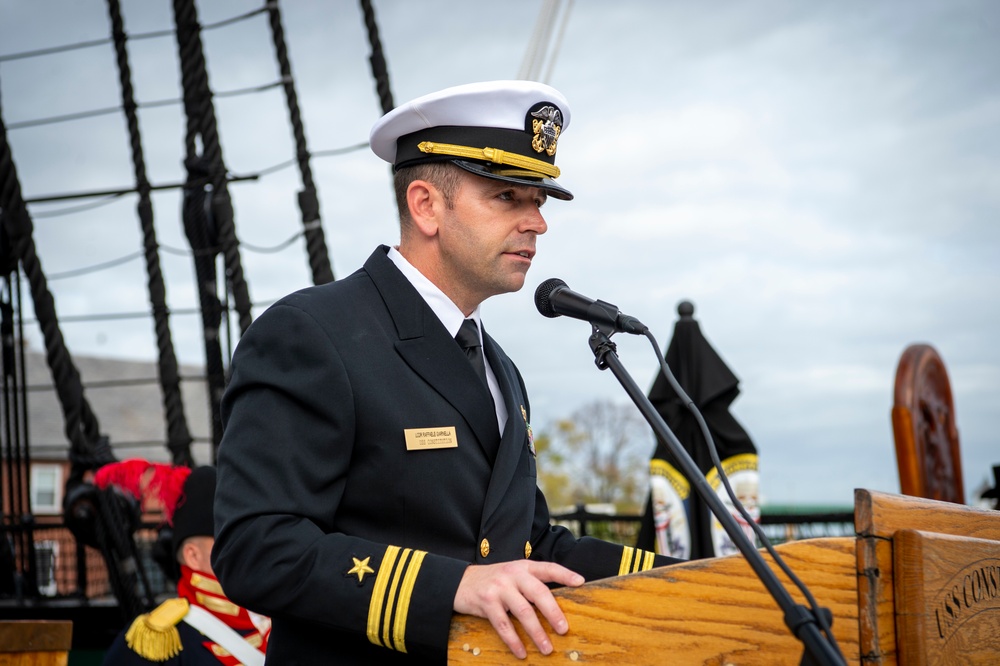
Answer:
<svg viewBox="0 0 1000 666"><path fill-rule="evenodd" d="M590 349L594 352L594 362L597 364L597 367L601 370L610 368L612 374L618 378L622 388L632 398L632 402L635 403L639 411L642 412L643 417L645 417L646 421L653 428L653 432L667 443L670 452L680 465L681 471L690 479L691 485L698 492L698 495L701 496L702 500L712 510L712 513L715 514L715 517L722 523L722 527L726 530L726 533L733 540L739 551L743 553L747 563L778 603L778 606L785 614L785 624L791 630L792 634L802 641L805 646L805 652L802 655L800 663L803 666L843 665L844 661L841 656L820 631L819 623L812 611L806 606L796 603L788 593L788 590L781 584L774 571L764 561L760 551L750 542L750 539L747 538L747 535L737 524L732 514L726 509L722 500L712 490L712 487L705 480L701 470L698 469L691 456L688 455L684 446L677 439L676 435L670 431L663 417L656 411L649 398L639 389L622 365L621 360L618 358L617 347L615 343L611 342L609 337L614 333L614 329L604 324L592 325L593 333L590 336ZM827 614L829 613L827 609L820 610L825 611Z"/></svg>

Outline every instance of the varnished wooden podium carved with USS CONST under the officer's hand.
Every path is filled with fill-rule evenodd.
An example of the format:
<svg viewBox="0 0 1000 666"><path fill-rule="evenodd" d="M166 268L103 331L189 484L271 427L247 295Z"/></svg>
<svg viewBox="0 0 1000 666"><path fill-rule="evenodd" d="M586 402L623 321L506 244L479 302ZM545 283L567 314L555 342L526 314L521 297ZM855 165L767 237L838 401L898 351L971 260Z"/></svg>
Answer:
<svg viewBox="0 0 1000 666"><path fill-rule="evenodd" d="M777 547L833 612L848 663L1000 663L1000 511L857 490L854 524L855 537ZM486 620L456 615L448 663L770 666L802 658L802 643L740 555L555 594L570 631L550 632L548 657L522 633L528 658L517 662Z"/></svg>

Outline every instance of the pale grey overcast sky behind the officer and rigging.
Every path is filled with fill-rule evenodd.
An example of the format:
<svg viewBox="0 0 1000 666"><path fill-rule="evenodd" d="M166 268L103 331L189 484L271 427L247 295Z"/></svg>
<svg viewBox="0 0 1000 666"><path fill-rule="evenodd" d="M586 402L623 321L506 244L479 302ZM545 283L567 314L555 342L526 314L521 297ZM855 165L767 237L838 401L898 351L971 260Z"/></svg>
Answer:
<svg viewBox="0 0 1000 666"><path fill-rule="evenodd" d="M211 24L258 0L200 3ZM374 0L396 103L446 86L515 78L542 7ZM165 0L123 2L126 30L172 26ZM380 107L357 2L282 3L309 147L362 143ZM566 11L564 5L563 11ZM525 288L483 308L518 363L544 429L593 400L627 402L594 365L583 322L532 303L550 277L643 320L661 347L691 300L703 332L741 380L733 405L760 453L765 502L850 505L858 487L898 492L890 410L896 365L933 345L955 396L967 495L1000 464L1000 4L639 2L570 6L549 83L572 121L558 164L570 203L550 201ZM109 35L100 0L0 0L0 56ZM217 92L274 82L264 16L203 36ZM173 38L130 42L136 98L179 97ZM109 45L0 61L0 113L26 198L128 187L120 113L17 128L120 104ZM223 157L249 174L294 157L279 89L216 99ZM140 110L154 184L183 179L178 105ZM395 243L388 167L367 150L312 162L336 275ZM252 298L306 286L295 168L233 183ZM33 204L47 274L141 248L135 198ZM187 247L176 192L156 195L160 242ZM197 302L190 257L165 251L175 310ZM148 309L145 268L53 279L60 315ZM28 301L30 312L30 298ZM174 316L183 362L201 363L197 318ZM148 320L68 321L74 354L155 356ZM34 336L40 347L38 336ZM617 336L636 382L652 350ZM86 378L84 378L86 380Z"/></svg>

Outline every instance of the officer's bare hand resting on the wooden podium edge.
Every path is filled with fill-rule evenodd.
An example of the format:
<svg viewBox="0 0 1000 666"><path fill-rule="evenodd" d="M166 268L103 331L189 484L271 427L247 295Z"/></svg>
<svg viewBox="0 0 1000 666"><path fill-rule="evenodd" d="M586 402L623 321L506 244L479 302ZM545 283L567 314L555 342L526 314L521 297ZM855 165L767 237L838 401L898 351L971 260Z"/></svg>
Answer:
<svg viewBox="0 0 1000 666"><path fill-rule="evenodd" d="M524 659L527 651L514 630L513 616L538 650L549 654L552 641L538 621L535 608L559 634L569 630L569 622L546 583L578 587L584 578L552 562L519 560L472 565L465 570L455 593L455 612L489 620L514 656Z"/></svg>

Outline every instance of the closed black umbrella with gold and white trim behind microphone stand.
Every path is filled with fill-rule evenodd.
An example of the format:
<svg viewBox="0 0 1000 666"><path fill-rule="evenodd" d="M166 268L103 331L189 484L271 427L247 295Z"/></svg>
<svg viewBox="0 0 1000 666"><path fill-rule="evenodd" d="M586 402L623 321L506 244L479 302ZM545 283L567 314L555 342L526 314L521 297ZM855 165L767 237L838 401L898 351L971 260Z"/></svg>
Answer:
<svg viewBox="0 0 1000 666"><path fill-rule="evenodd" d="M677 313L680 319L674 325L674 336L664 354L667 366L705 419L737 497L750 515L757 518L757 449L729 412L740 392L739 380L702 335L694 319L694 305L684 301L677 306ZM723 502L730 506L698 422L662 371L653 382L649 400ZM691 492L691 480L680 469L666 443L658 441L650 462L650 497L637 546L685 559L736 552L704 501ZM733 509L732 513L740 523L745 522L738 511ZM749 527L746 530L752 540L752 531Z"/></svg>

